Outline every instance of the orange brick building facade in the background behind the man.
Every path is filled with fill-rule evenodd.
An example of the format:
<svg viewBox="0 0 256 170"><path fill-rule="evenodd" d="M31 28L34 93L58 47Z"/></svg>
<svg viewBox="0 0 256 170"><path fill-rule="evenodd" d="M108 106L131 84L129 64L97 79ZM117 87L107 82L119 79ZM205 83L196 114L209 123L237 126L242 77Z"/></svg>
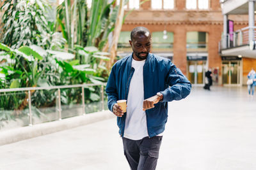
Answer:
<svg viewBox="0 0 256 170"><path fill-rule="evenodd" d="M219 55L219 41L223 32L223 15L219 0L209 0L209 8L205 10L188 10L186 0L175 0L171 10L153 10L151 3L147 1L141 4L139 9L132 11L125 18L122 32L131 31L140 25L147 27L152 33L172 32L173 45L168 53L172 56L173 63L189 80L195 85L203 85L204 72L211 67L216 71L216 82L221 84L222 60ZM129 10L125 10L125 13L128 12ZM234 15L230 18L236 19L235 30L248 25L246 16ZM196 48L188 48L189 32L205 32L204 48L197 48L200 46L199 41ZM154 43L156 41L153 41L153 45ZM131 52L131 48L129 51ZM156 51L152 48L153 53Z"/></svg>

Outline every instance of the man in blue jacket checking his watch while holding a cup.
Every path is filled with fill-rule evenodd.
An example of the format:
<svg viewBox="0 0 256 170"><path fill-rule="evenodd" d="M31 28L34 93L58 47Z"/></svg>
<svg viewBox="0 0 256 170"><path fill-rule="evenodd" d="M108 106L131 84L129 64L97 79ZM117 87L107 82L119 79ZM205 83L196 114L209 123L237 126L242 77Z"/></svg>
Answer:
<svg viewBox="0 0 256 170"><path fill-rule="evenodd" d="M129 43L133 53L114 64L108 79L108 107L117 117L131 169L156 169L168 101L188 96L191 83L170 60L149 53L147 28L134 28ZM116 103L120 99L127 100L126 113Z"/></svg>

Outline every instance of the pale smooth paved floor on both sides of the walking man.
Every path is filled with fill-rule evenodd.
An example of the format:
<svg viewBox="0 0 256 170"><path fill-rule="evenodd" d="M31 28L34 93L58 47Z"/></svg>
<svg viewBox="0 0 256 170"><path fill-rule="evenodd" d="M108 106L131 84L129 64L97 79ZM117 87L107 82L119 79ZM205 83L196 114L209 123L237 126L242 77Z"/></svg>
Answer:
<svg viewBox="0 0 256 170"><path fill-rule="evenodd" d="M157 170L256 169L256 96L195 87L169 103ZM129 170L115 118L0 146L0 169Z"/></svg>

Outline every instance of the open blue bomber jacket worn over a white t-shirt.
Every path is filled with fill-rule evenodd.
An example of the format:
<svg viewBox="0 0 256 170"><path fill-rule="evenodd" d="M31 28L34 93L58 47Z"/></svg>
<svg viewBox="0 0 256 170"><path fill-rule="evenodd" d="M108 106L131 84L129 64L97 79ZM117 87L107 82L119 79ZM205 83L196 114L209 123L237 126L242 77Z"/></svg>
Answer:
<svg viewBox="0 0 256 170"><path fill-rule="evenodd" d="M134 68L132 54L118 60L112 67L106 86L108 94L108 108L113 111L116 101L126 99L129 93ZM189 95L191 83L181 71L171 62L149 53L143 66L144 99L155 96L157 92L163 94L163 101L155 107L146 110L148 136L151 138L164 131L168 117L168 102L179 101ZM126 113L117 117L120 136L124 136Z"/></svg>

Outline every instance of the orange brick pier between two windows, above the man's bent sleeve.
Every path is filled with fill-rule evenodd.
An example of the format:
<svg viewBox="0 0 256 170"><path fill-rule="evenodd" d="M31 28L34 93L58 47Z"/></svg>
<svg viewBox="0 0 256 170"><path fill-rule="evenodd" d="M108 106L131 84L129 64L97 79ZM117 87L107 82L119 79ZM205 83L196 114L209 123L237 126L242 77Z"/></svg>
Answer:
<svg viewBox="0 0 256 170"><path fill-rule="evenodd" d="M175 26L173 42L173 63L186 75L187 67L187 39L184 25Z"/></svg>

